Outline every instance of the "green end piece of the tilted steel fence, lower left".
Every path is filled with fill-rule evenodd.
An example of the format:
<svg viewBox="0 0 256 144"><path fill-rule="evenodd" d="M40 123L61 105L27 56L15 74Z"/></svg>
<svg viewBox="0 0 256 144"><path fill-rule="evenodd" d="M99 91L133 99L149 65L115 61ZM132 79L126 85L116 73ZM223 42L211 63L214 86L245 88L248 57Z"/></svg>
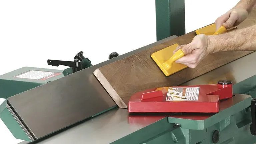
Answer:
<svg viewBox="0 0 256 144"><path fill-rule="evenodd" d="M31 142L26 132L6 107L6 100L0 105L0 118L16 139Z"/></svg>

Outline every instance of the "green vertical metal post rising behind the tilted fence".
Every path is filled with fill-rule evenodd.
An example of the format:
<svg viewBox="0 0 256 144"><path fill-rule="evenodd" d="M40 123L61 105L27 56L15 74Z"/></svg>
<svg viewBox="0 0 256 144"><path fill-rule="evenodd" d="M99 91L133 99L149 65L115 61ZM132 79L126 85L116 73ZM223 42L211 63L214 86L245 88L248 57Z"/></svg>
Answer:
<svg viewBox="0 0 256 144"><path fill-rule="evenodd" d="M184 0L156 0L155 6L157 41L186 33Z"/></svg>

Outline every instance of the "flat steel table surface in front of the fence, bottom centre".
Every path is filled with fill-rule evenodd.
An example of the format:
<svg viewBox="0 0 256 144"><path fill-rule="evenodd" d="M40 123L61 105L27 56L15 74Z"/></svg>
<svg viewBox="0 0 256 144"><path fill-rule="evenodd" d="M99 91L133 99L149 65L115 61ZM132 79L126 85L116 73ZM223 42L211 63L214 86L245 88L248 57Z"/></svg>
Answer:
<svg viewBox="0 0 256 144"><path fill-rule="evenodd" d="M153 122L167 116L145 117L148 121L134 121L129 118L127 109L114 108L108 112L89 119L81 124L71 127L49 138L44 138L36 144L109 144L125 137ZM19 144L28 144L23 141Z"/></svg>

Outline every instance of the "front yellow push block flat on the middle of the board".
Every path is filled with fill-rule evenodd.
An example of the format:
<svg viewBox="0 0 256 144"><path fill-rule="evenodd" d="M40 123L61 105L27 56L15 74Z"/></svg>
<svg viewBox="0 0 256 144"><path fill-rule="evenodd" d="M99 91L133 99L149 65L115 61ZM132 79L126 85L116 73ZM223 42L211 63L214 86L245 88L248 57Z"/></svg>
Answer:
<svg viewBox="0 0 256 144"><path fill-rule="evenodd" d="M178 46L178 44L174 44L151 54L151 58L155 61L155 63L162 70L165 76L169 76L171 74L174 74L178 71L187 68L186 65L175 63L177 59L184 56L184 53L182 52L181 49L173 55L173 51Z"/></svg>

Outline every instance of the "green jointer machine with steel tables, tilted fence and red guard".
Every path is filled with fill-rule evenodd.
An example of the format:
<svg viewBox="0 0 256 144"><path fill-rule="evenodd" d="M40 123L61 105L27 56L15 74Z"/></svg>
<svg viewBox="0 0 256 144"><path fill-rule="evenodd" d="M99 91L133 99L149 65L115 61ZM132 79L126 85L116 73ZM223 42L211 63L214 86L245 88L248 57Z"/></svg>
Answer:
<svg viewBox="0 0 256 144"><path fill-rule="evenodd" d="M123 55L111 53L109 60L94 66L80 52L74 61L48 60L49 65L70 66L64 71L23 67L1 75L0 97L6 100L0 106L0 118L15 138L24 140L21 144L256 143L255 52L179 85L213 84L221 86L221 91L209 93L218 91L217 87L209 88L206 93L209 93L207 98L212 103L174 104L175 107L169 106L175 109L172 113L140 113L142 108L118 108L93 75L101 66L176 37L168 37ZM136 94L131 97L131 104L138 98ZM145 99L154 97L143 94ZM168 110L168 105L165 107ZM211 113L203 113L209 110L207 107L213 108ZM156 106L152 109L158 111Z"/></svg>

